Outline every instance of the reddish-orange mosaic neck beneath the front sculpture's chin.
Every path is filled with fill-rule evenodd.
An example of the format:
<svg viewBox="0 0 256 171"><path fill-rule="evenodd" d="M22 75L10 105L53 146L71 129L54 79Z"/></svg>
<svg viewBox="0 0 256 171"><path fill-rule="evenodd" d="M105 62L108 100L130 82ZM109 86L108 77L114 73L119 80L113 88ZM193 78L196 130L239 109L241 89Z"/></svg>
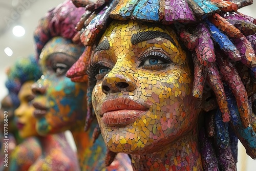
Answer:
<svg viewBox="0 0 256 171"><path fill-rule="evenodd" d="M189 134L158 152L132 155L134 170L203 170L197 139Z"/></svg>

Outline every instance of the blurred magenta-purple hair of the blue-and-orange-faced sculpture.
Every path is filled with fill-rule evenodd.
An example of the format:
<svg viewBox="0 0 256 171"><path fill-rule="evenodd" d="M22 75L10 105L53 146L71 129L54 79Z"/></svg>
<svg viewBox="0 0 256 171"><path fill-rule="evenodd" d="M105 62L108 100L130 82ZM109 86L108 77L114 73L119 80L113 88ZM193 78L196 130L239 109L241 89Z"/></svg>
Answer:
<svg viewBox="0 0 256 171"><path fill-rule="evenodd" d="M76 8L72 1L69 0L50 10L41 18L34 32L37 58L42 48L44 48L51 38L61 36L67 39L73 39L77 34L75 26L83 13L84 8ZM80 44L79 39L73 42Z"/></svg>

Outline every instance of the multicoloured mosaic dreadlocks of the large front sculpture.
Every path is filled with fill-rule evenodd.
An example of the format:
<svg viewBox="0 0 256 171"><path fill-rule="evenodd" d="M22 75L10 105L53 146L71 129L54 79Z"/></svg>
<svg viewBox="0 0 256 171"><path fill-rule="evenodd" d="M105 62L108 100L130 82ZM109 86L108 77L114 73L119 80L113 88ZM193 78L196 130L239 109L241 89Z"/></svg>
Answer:
<svg viewBox="0 0 256 171"><path fill-rule="evenodd" d="M237 137L245 146L247 154L256 158L256 134L250 124L251 109L250 105L248 106L250 103L248 97L252 97L256 91L256 26L254 25L256 22L252 17L237 12L239 8L252 4L252 1L98 0L92 3L86 0L73 0L73 2L76 6L86 8L77 30L80 30L80 39L86 46L87 54L79 58L68 71L67 76L74 81L83 81L79 78L86 74L95 45L113 19L172 24L180 40L193 52L195 68L193 96L204 98L205 82L207 82L219 106L214 113L208 112L207 106L204 108L208 112L205 114L207 135L205 136L203 129L201 130L203 133L200 133L201 141L204 142L201 144L204 168L216 169L219 164L223 170L234 169L233 159L228 160L227 156L232 153L236 160ZM93 86L89 79L88 108L91 110L88 110L87 127L93 116L91 103ZM215 140L214 148L211 137Z"/></svg>

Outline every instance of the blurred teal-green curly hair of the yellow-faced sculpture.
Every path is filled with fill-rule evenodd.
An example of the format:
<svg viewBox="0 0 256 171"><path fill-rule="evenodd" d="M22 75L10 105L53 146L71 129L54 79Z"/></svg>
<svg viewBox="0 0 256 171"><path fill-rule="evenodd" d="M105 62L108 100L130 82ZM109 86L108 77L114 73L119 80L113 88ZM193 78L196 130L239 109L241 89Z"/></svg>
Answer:
<svg viewBox="0 0 256 171"><path fill-rule="evenodd" d="M19 57L14 65L7 71L6 88L9 91L14 107L19 105L18 92L22 84L29 80L36 81L41 76L37 60L34 55L29 57Z"/></svg>

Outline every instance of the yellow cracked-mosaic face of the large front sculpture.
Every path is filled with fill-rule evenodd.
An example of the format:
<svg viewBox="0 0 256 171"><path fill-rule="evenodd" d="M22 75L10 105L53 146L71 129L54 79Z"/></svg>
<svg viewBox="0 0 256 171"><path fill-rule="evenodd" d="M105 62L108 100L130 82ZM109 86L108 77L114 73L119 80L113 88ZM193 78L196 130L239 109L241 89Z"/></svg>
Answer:
<svg viewBox="0 0 256 171"><path fill-rule="evenodd" d="M97 80L97 120L113 152L153 152L196 126L193 74L170 27L113 22L96 48L90 76Z"/></svg>

